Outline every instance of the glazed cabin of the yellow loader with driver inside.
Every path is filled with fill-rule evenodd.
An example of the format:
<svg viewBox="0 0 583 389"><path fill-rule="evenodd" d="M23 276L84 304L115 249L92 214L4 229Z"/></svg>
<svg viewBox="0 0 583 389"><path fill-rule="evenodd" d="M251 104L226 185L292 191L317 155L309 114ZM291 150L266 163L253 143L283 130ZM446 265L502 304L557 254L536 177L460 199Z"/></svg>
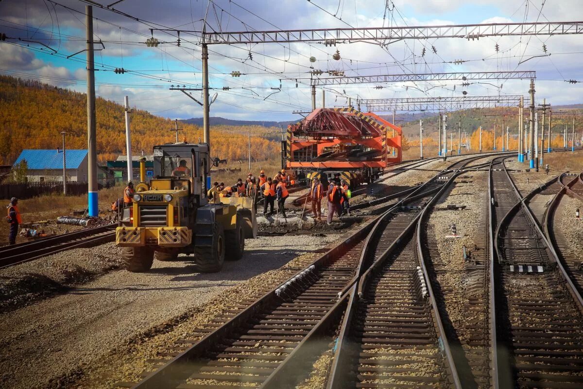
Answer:
<svg viewBox="0 0 583 389"><path fill-rule="evenodd" d="M186 190L196 206L205 205L206 177L211 167L208 143L167 143L154 146L152 191Z"/></svg>

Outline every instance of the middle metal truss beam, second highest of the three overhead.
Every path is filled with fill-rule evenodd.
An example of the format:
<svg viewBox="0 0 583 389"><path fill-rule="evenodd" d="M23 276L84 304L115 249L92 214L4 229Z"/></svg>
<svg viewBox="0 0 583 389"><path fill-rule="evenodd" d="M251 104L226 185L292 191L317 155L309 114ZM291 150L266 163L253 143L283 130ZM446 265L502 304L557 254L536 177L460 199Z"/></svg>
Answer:
<svg viewBox="0 0 583 389"><path fill-rule="evenodd" d="M456 72L456 73L418 73L418 74L384 74L375 76L346 76L330 78L298 78L311 80L312 85L339 85L374 82L408 82L441 80L493 80L493 79L532 79L536 72Z"/></svg>

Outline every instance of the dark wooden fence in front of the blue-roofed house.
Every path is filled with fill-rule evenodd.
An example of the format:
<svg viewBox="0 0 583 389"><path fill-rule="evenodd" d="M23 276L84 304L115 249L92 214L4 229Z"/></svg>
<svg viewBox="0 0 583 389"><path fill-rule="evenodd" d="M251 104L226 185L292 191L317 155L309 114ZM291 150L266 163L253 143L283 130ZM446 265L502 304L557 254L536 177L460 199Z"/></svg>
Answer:
<svg viewBox="0 0 583 389"><path fill-rule="evenodd" d="M97 185L99 189L109 188L115 185L113 180L100 180ZM62 181L30 182L23 184L0 184L0 198L10 199L32 198L44 194L58 194L63 192ZM71 182L67 183L67 194L78 196L87 193L87 183Z"/></svg>

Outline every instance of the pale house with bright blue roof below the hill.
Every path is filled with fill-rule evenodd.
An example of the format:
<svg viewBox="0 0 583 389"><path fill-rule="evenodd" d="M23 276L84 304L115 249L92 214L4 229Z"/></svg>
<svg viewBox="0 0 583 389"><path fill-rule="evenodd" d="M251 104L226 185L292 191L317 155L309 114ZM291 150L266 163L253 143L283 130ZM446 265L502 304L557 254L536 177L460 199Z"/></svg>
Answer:
<svg viewBox="0 0 583 389"><path fill-rule="evenodd" d="M26 161L29 181L62 181L63 150L22 150L15 164ZM87 182L87 150L65 150L67 181Z"/></svg>

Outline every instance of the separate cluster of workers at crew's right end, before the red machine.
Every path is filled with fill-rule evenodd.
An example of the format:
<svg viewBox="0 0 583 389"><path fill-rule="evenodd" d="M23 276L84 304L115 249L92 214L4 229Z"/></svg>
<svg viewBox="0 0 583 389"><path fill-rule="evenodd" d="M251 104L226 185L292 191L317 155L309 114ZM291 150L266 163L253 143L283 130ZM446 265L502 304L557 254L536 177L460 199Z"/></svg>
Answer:
<svg viewBox="0 0 583 389"><path fill-rule="evenodd" d="M324 187L319 178L312 178L310 186L310 201L312 203L312 214L314 218L322 220L322 198L324 198L324 191L326 191L326 200L328 201L328 215L326 215L326 222L331 223L334 213L338 217L344 213L350 215L350 187L346 180L340 179L340 174L336 173L334 179L328 183L328 188Z"/></svg>

